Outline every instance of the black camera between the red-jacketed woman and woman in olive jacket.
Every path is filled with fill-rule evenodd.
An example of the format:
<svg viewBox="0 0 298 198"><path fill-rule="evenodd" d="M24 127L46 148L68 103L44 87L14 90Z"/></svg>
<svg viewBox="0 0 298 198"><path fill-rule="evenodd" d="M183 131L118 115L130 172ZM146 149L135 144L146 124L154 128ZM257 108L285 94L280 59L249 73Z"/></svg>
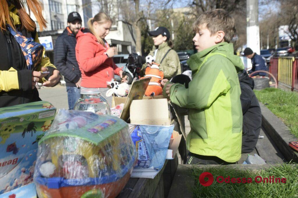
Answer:
<svg viewBox="0 0 298 198"><path fill-rule="evenodd" d="M145 57L136 53L128 55L127 68L133 74L133 78L139 77L143 64L145 64Z"/></svg>

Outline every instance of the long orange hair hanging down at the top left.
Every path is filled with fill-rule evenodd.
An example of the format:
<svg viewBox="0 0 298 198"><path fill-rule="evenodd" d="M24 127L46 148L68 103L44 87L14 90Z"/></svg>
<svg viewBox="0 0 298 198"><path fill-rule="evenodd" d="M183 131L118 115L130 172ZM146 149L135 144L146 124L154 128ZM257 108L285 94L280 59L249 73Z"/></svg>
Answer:
<svg viewBox="0 0 298 198"><path fill-rule="evenodd" d="M35 22L30 18L30 11L33 12L38 24L40 31L43 28L46 28L46 20L42 16L41 5L38 0L26 0L27 8L29 14L26 12L24 8L24 4L22 0L11 0L12 4L18 10L18 16L20 17L22 27L27 29L30 32L33 32L36 28ZM0 29L1 31L5 31L5 24L9 24L13 29L15 26L13 21L9 15L8 4L6 0L0 0Z"/></svg>

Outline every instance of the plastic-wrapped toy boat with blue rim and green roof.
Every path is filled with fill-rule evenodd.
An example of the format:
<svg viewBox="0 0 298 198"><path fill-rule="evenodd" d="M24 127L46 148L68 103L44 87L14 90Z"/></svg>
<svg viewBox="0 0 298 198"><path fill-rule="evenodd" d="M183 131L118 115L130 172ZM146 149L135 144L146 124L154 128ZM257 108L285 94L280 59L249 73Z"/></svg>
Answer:
<svg viewBox="0 0 298 198"><path fill-rule="evenodd" d="M136 149L123 120L59 110L38 143L39 197L116 197L130 178Z"/></svg>

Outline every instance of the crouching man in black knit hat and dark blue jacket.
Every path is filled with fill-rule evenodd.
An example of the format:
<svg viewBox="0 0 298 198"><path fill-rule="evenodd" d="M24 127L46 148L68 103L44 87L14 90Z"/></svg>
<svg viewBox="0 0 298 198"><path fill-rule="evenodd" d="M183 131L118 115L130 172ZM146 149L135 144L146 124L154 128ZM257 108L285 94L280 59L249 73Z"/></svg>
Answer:
<svg viewBox="0 0 298 198"><path fill-rule="evenodd" d="M252 73L258 70L265 70L265 71L268 70L265 59L262 56L254 53L251 48L245 48L243 53L244 53L243 55L246 56L246 58L252 59L252 69L249 70L248 73ZM257 75L266 76L266 73L258 72L258 73L254 73L252 76L257 76Z"/></svg>

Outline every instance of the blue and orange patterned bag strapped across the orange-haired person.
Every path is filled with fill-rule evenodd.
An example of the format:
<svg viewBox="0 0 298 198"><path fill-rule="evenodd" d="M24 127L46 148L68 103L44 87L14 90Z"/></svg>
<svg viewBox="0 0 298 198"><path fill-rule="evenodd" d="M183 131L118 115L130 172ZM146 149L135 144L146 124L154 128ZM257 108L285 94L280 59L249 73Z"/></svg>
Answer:
<svg viewBox="0 0 298 198"><path fill-rule="evenodd" d="M7 27L9 32L21 46L28 69L35 70L41 63L44 46L40 43L36 43L33 38L24 37L21 32L15 32L10 25L7 25Z"/></svg>

